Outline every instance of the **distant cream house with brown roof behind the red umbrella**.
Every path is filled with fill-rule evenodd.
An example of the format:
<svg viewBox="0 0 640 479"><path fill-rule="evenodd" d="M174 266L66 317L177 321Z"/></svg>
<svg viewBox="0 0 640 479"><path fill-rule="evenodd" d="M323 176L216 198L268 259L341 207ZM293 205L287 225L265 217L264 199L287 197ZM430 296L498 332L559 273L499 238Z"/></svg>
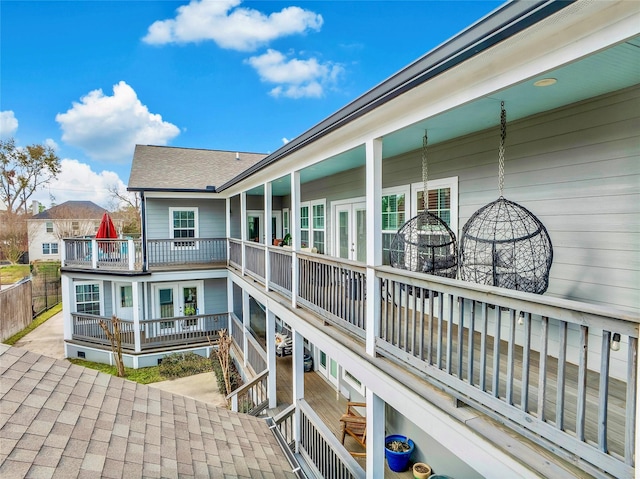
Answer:
<svg viewBox="0 0 640 479"><path fill-rule="evenodd" d="M34 201L32 211L39 210ZM27 220L29 261L60 261L62 239L95 235L106 212L91 201L66 201L33 215Z"/></svg>

